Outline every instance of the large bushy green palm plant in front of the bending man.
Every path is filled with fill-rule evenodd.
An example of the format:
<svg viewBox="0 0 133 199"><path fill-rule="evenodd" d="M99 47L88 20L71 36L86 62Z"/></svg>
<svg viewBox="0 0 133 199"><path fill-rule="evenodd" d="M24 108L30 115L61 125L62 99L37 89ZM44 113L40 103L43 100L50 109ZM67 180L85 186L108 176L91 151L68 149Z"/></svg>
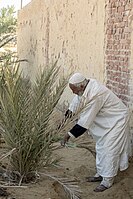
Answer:
<svg viewBox="0 0 133 199"><path fill-rule="evenodd" d="M13 173L25 181L51 158L55 131L53 110L66 86L56 63L46 67L31 84L17 67L3 67L0 78L0 126ZM58 80L57 80L58 79ZM33 175L32 175L33 176Z"/></svg>

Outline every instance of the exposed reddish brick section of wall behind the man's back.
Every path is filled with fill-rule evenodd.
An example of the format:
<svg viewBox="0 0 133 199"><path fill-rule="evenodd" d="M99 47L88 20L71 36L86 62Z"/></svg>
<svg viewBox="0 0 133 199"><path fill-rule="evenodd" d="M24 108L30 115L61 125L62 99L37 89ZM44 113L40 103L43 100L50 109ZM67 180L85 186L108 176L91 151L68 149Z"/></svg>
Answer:
<svg viewBox="0 0 133 199"><path fill-rule="evenodd" d="M132 0L106 0L106 84L126 104L130 98Z"/></svg>

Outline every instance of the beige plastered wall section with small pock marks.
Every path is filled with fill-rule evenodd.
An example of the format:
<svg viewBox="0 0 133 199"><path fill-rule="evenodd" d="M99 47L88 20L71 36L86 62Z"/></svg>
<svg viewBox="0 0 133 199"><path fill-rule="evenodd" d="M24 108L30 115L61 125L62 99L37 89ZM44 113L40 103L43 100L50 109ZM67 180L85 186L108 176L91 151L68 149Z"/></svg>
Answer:
<svg viewBox="0 0 133 199"><path fill-rule="evenodd" d="M18 13L18 54L34 79L39 66L59 65L104 81L103 0L33 0Z"/></svg>

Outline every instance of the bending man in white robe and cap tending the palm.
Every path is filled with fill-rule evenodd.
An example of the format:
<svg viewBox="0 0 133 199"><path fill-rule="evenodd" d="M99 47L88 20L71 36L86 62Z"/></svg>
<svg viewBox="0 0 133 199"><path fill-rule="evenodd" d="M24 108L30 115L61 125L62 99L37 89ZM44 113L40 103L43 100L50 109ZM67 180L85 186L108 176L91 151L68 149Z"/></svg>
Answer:
<svg viewBox="0 0 133 199"><path fill-rule="evenodd" d="M97 173L88 177L87 181L100 181L94 191L101 192L112 186L118 169L128 168L128 109L107 87L94 79L86 79L80 73L72 75L69 87L75 97L67 114L75 113L81 105L84 108L77 124L65 134L61 145L65 146L70 137L77 138L89 129L96 141Z"/></svg>

